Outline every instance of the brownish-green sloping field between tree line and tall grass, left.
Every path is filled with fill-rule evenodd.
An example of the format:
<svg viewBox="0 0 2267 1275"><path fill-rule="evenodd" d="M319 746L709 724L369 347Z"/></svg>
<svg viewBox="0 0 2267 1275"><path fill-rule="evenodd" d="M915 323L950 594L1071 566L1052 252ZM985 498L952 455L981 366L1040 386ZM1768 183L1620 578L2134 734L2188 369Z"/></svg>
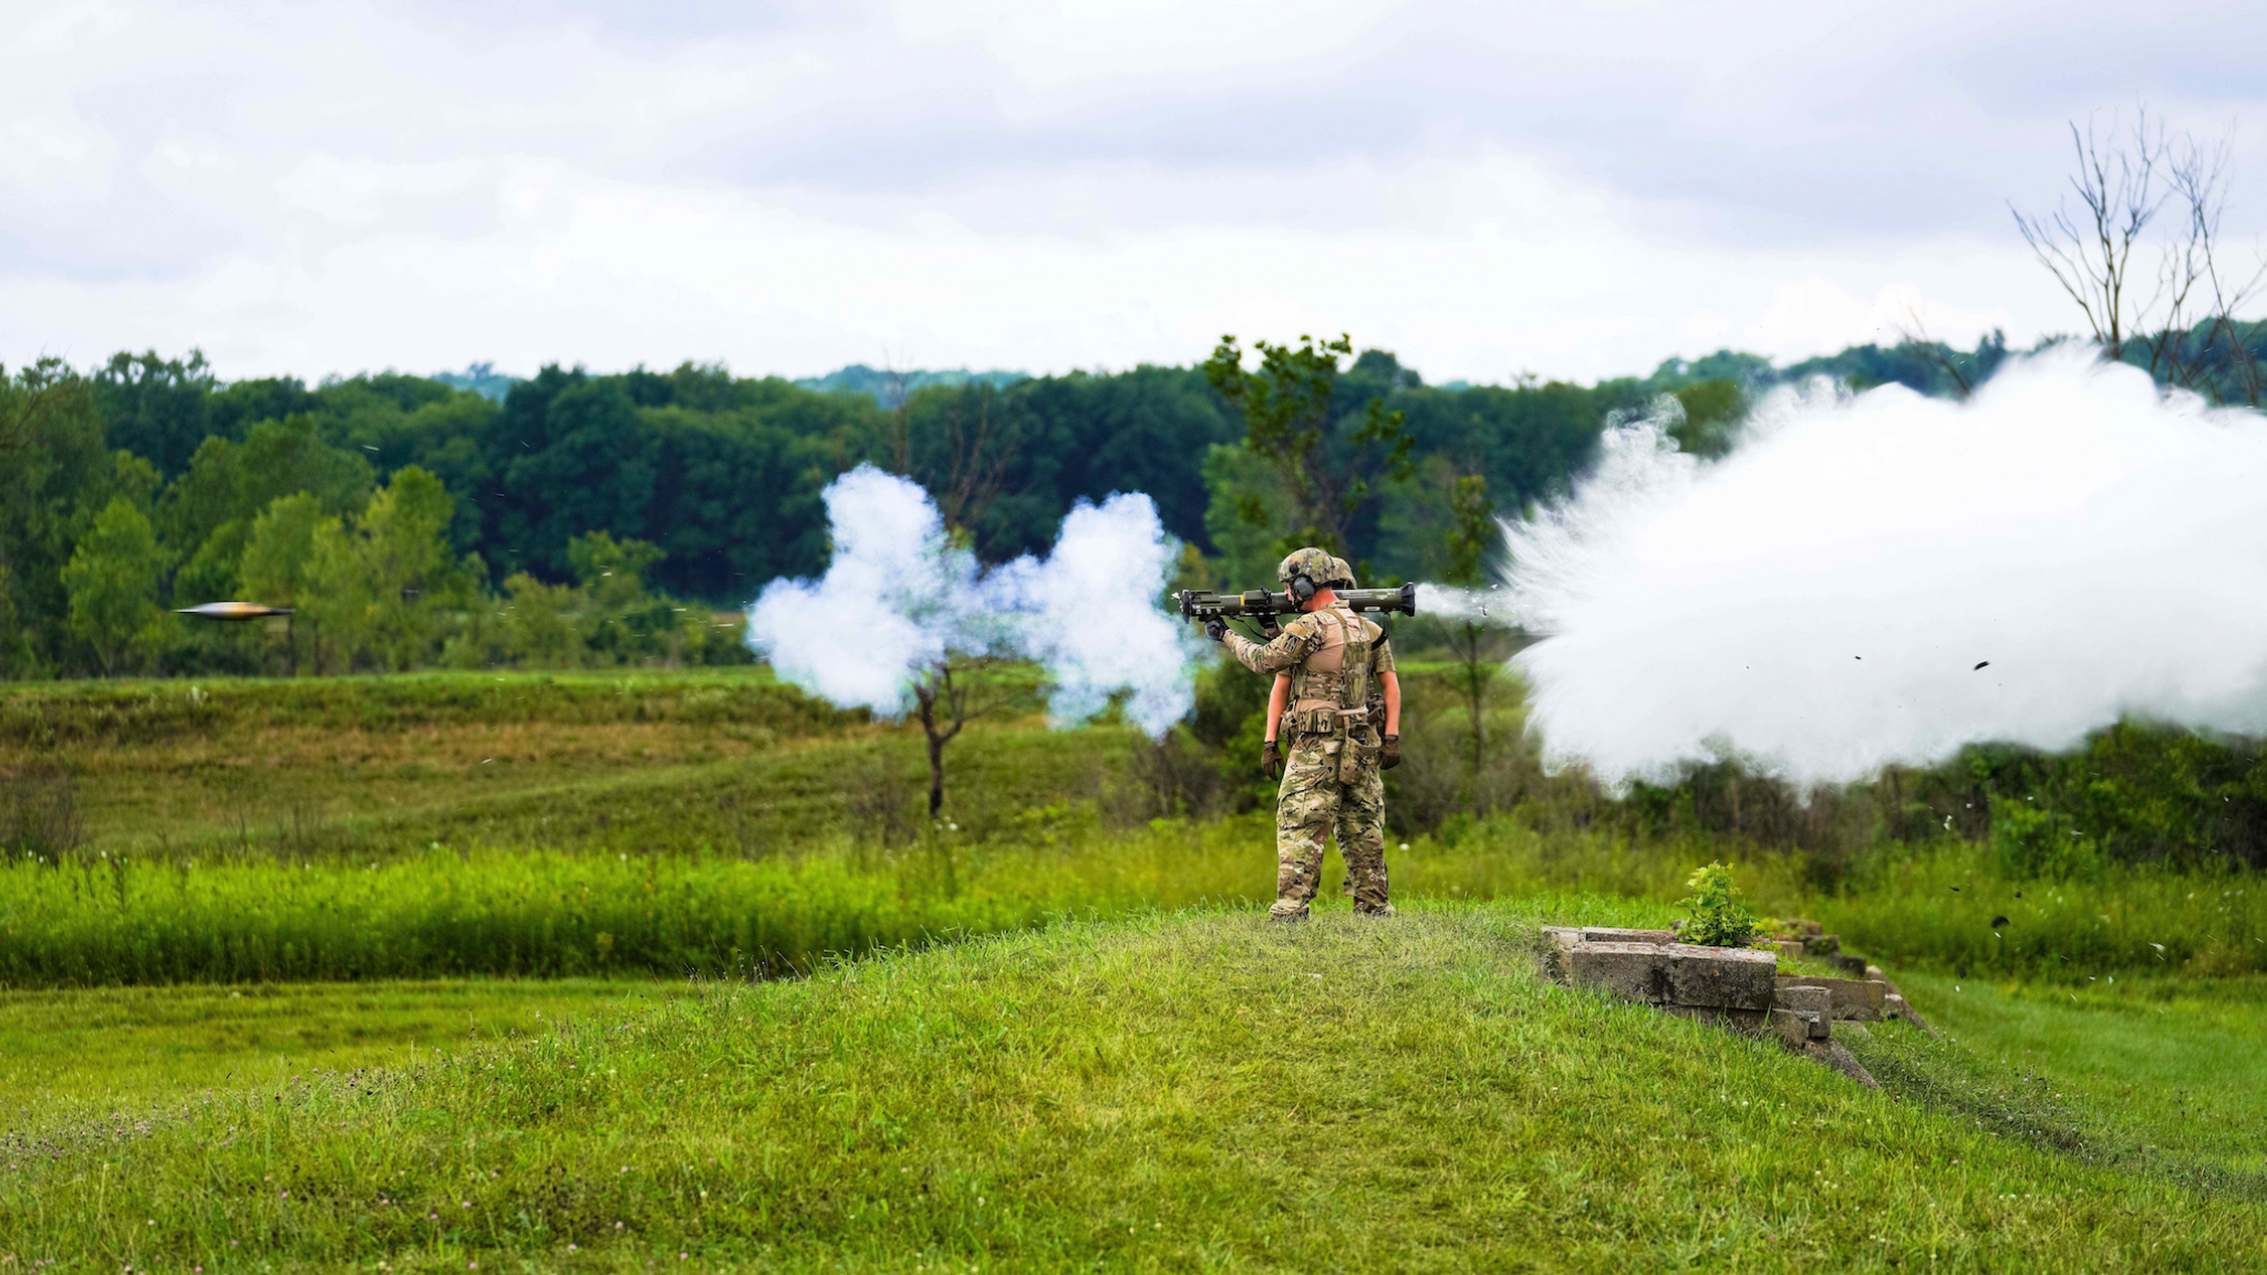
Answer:
<svg viewBox="0 0 2267 1275"><path fill-rule="evenodd" d="M995 681L1000 715L948 753L966 814L1124 769L1134 733L1050 733L1029 669ZM759 848L855 810L905 824L925 785L918 728L766 669L0 685L0 844L63 799L79 848L113 855Z"/></svg>

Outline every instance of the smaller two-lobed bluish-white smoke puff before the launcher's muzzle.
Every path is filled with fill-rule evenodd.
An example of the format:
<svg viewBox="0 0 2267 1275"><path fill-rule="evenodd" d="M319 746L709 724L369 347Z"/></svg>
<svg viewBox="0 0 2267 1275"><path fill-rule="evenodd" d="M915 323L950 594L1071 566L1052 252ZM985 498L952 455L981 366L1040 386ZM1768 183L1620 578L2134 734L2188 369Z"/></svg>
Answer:
<svg viewBox="0 0 2267 1275"><path fill-rule="evenodd" d="M1124 692L1152 737L1188 715L1202 635L1156 597L1179 547L1140 492L1079 504L1047 558L984 572L945 538L918 483L859 465L825 490L834 558L816 581L771 581L748 606L748 644L793 685L841 708L900 717L914 676L950 653L1018 656L1047 669L1056 724Z"/></svg>

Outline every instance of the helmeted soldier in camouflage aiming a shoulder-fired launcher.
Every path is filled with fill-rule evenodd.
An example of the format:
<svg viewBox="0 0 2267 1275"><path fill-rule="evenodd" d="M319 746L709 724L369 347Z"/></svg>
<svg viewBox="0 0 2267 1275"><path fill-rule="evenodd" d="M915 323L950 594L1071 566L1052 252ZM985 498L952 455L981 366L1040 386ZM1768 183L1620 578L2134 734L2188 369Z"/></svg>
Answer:
<svg viewBox="0 0 2267 1275"><path fill-rule="evenodd" d="M1381 628L1338 603L1328 581L1342 579L1322 549L1299 549L1276 569L1301 615L1267 644L1211 619L1204 631L1256 674L1290 672L1279 687L1281 715L1294 731L1276 792L1276 921L1304 921L1322 873L1322 842L1338 833L1338 853L1353 880L1353 910L1392 917L1385 883L1385 778L1401 765L1401 683L1378 647ZM1372 717L1381 687L1383 724ZM1276 765L1274 726L1283 703L1270 703L1265 765ZM1383 731L1381 731L1383 726Z"/></svg>

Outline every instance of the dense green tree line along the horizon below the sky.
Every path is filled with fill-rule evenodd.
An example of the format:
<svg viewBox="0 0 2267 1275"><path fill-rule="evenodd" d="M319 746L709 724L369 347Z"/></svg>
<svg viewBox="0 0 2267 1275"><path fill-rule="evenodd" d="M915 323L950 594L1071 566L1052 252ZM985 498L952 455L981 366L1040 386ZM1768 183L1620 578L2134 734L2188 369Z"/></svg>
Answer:
<svg viewBox="0 0 2267 1275"><path fill-rule="evenodd" d="M1664 395L1712 454L1773 383L1963 392L2006 347L1786 370L1721 352L1596 386L1428 386L1387 352L1347 354L1304 463L1360 492L1335 547L1383 581L1444 579L1480 513L1564 488L1616 413ZM1075 501L1120 490L1149 492L1213 583L1260 583L1281 551L1283 470L1202 368L837 381L685 363L222 383L197 354L0 370L0 676L741 658L714 613L825 567L821 490L859 463L918 479L988 560L1045 549ZM1365 442L1387 417L1399 449ZM222 599L304 624L170 615Z"/></svg>

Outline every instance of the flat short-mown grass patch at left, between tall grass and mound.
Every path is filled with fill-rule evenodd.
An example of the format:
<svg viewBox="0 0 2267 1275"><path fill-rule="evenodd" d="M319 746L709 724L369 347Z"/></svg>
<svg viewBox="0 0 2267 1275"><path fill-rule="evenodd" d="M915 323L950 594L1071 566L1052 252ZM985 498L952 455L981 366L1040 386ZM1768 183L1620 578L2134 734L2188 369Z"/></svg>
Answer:
<svg viewBox="0 0 2267 1275"><path fill-rule="evenodd" d="M0 991L0 1128L428 1062L691 989L653 980Z"/></svg>

